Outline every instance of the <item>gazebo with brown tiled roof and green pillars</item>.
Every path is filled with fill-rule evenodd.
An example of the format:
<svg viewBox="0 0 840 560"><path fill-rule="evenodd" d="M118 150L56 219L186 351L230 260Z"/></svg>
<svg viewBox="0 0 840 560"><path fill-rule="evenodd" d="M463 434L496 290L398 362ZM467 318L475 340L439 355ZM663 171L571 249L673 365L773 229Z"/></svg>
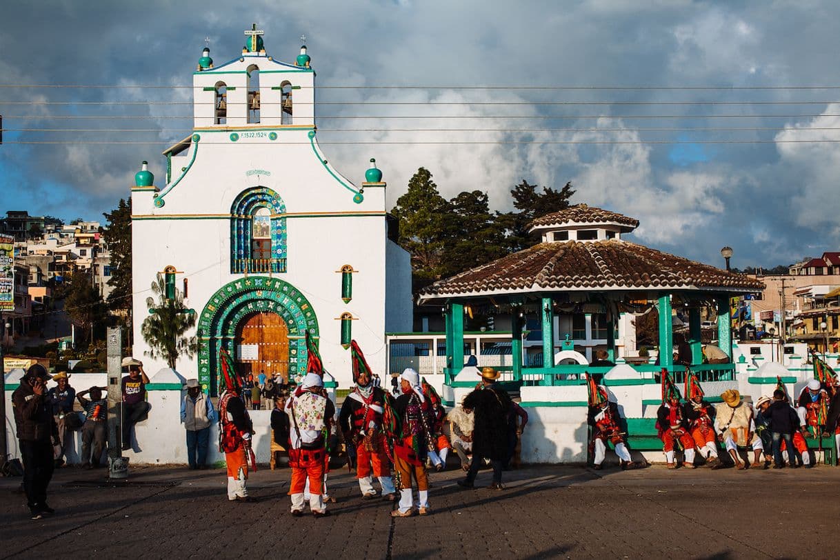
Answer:
<svg viewBox="0 0 840 560"><path fill-rule="evenodd" d="M722 320L718 342L732 356L729 300L764 289L758 280L708 264L650 249L622 239L638 227L638 220L579 204L539 217L530 231L542 234L531 248L439 280L420 292L422 304L444 304L447 309L447 358L451 375L463 364L465 305L507 306L512 315L512 379L522 374L541 376L545 385L563 379L569 369L554 364L554 309L569 303L601 304L607 314L607 348L614 359L614 324L620 311L638 309L652 301L659 308L659 348L673 348L673 300L689 311L692 369L731 370L732 364L701 366L701 307L710 303ZM522 317L541 311L543 367L522 367ZM681 370L670 351L659 353L657 368ZM452 367L452 364L456 364ZM591 369L591 368L590 368ZM527 370L527 371L523 371Z"/></svg>

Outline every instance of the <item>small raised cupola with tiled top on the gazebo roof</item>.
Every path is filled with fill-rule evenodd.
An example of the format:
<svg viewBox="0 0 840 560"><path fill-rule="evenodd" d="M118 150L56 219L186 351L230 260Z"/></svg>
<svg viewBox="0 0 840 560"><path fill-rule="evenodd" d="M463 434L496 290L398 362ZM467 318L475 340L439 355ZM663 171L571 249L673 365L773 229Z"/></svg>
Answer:
<svg viewBox="0 0 840 560"><path fill-rule="evenodd" d="M554 241L602 241L621 239L622 233L638 228L638 220L617 212L577 204L559 212L538 217L530 232L540 233L543 243Z"/></svg>

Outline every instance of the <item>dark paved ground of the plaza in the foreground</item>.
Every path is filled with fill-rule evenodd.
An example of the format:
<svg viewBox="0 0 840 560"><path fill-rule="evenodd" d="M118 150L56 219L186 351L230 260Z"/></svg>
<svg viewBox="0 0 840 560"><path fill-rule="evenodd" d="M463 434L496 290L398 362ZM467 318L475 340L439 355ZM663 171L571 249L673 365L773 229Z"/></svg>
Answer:
<svg viewBox="0 0 840 560"><path fill-rule="evenodd" d="M293 518L288 469L251 474L230 503L221 469L132 468L127 484L62 468L55 516L31 521L20 479L0 479L0 557L602 558L834 557L840 469L622 472L540 466L507 489L432 474L432 515L395 519L333 470L332 516ZM477 484L489 482L483 471Z"/></svg>

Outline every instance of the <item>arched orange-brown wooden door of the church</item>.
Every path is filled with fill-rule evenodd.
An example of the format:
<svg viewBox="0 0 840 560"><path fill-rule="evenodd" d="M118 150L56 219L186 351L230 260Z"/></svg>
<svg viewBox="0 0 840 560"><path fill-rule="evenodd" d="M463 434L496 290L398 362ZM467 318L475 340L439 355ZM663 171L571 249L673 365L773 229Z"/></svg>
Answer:
<svg viewBox="0 0 840 560"><path fill-rule="evenodd" d="M283 317L257 312L245 317L237 327L237 363L242 374L265 372L267 376L289 376L289 329Z"/></svg>

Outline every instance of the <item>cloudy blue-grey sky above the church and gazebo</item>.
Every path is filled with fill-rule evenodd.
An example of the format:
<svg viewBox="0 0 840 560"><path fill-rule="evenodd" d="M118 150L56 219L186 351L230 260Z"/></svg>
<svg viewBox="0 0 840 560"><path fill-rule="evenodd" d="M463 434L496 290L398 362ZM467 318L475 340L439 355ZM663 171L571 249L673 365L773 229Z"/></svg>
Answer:
<svg viewBox="0 0 840 560"><path fill-rule="evenodd" d="M323 150L354 181L374 156L389 205L424 166L499 210L522 179L572 181L711 264L840 249L836 0L0 0L0 212L97 219L140 160L160 180L205 38L233 59L252 22L279 60L307 35Z"/></svg>

